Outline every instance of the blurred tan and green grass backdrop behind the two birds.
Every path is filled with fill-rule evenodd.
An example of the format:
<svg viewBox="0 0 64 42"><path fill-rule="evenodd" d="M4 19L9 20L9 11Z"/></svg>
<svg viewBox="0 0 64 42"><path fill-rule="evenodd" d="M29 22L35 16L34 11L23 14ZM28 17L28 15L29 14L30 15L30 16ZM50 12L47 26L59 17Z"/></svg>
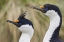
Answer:
<svg viewBox="0 0 64 42"><path fill-rule="evenodd" d="M47 3L57 5L61 10L63 22L59 37L64 40L64 0L0 0L0 42L18 42L21 32L6 20L17 19L26 10L26 18L32 21L35 30L31 42L42 42L49 27L49 18L30 6L39 7Z"/></svg>

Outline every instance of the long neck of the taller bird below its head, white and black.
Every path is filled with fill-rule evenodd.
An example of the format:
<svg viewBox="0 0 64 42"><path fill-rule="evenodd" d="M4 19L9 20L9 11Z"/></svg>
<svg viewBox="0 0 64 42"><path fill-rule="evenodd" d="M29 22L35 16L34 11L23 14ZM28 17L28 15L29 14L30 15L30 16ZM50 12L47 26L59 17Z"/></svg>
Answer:
<svg viewBox="0 0 64 42"><path fill-rule="evenodd" d="M57 38L61 27L61 18L57 14L56 16L50 17L50 26L46 32L43 42L50 42L52 38Z"/></svg>

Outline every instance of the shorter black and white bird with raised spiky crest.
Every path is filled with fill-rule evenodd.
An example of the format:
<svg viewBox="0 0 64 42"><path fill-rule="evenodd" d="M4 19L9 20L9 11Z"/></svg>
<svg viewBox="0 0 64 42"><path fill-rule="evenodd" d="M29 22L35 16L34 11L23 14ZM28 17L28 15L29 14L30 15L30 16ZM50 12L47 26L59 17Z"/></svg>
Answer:
<svg viewBox="0 0 64 42"><path fill-rule="evenodd" d="M19 42L30 42L34 34L33 24L30 20L25 18L25 15L25 13L21 14L19 18L15 19L14 21L7 20L7 22L16 25L22 32Z"/></svg>

